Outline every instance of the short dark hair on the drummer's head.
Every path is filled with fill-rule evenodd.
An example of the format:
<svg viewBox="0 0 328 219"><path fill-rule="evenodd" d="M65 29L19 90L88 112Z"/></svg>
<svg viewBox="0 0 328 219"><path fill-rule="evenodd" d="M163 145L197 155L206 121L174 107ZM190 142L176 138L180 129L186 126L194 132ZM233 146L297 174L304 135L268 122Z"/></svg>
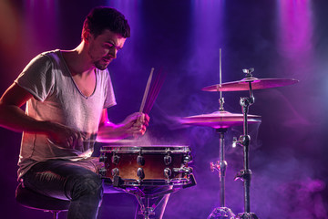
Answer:
<svg viewBox="0 0 328 219"><path fill-rule="evenodd" d="M82 38L86 31L97 37L106 29L125 38L130 36L130 27L125 16L114 8L101 6L95 7L87 15L83 23Z"/></svg>

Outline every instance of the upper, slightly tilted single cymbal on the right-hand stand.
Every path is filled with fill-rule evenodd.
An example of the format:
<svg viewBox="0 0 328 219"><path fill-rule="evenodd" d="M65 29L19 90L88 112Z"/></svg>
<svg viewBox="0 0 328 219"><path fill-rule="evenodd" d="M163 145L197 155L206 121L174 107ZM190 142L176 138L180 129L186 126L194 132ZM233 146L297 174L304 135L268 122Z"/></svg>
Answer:
<svg viewBox="0 0 328 219"><path fill-rule="evenodd" d="M243 78L241 80L211 85L201 90L204 91L239 91L249 90L251 82L251 89L271 89L287 85L292 85L299 80L297 79L286 79L286 78Z"/></svg>

